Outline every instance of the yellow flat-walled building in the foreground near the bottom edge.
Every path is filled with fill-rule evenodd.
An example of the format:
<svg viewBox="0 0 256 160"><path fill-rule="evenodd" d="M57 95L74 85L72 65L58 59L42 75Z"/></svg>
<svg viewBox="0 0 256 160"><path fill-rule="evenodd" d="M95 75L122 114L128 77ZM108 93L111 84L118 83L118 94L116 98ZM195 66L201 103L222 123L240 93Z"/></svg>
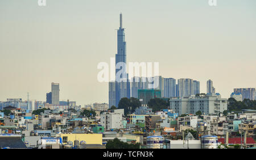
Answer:
<svg viewBox="0 0 256 160"><path fill-rule="evenodd" d="M60 134L63 144L67 144L68 141L74 142L75 140L85 141L86 144L100 144L102 145L102 134Z"/></svg>

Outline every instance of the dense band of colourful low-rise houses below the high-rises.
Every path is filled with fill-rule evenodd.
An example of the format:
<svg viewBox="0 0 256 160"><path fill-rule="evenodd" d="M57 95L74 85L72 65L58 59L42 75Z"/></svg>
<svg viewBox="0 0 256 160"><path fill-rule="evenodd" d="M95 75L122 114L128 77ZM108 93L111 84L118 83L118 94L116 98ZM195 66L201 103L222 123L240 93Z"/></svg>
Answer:
<svg viewBox="0 0 256 160"><path fill-rule="evenodd" d="M256 145L255 113L180 116L170 109L154 113L143 105L128 115L124 114L124 109L115 109L97 111L96 116L88 118L80 115L82 110L74 113L53 109L34 115L15 107L6 109L11 113L9 116L0 113L0 133L3 137L20 137L26 148L105 148L105 144L115 138L133 144L139 142L141 148L145 148L146 137L152 135L163 136L166 143L172 144L171 148L184 145L185 139L190 139L190 148L193 145L198 148L203 135L218 136L219 142L225 144ZM203 132L200 123L204 124ZM239 141L232 141L235 138Z"/></svg>

